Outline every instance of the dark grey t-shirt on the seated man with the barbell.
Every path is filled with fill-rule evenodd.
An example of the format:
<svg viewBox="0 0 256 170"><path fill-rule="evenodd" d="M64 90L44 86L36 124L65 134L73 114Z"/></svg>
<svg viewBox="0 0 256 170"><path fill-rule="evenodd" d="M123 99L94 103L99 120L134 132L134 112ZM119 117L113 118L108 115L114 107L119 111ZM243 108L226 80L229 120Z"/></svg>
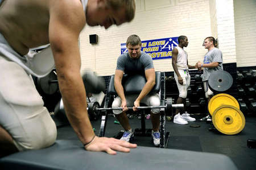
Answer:
<svg viewBox="0 0 256 170"><path fill-rule="evenodd" d="M117 70L125 74L144 74L147 69L154 68L153 60L146 52L141 52L138 59L133 59L129 53L123 53L117 59Z"/></svg>

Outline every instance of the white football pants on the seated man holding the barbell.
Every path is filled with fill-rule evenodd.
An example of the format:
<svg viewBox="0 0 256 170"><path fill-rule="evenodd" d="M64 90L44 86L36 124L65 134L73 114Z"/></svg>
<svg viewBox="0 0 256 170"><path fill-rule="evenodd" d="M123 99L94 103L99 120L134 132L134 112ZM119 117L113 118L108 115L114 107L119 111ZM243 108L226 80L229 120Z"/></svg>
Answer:
<svg viewBox="0 0 256 170"><path fill-rule="evenodd" d="M127 107L133 107L134 101L136 100L137 97L138 97L138 94L130 94L125 96ZM142 99L141 103L147 106L160 106L160 97L158 94L148 94ZM112 103L112 108L121 107L121 104L122 104L121 98L119 96L115 97ZM151 112L154 114L157 114L160 112L160 109L151 109ZM120 114L122 113L122 110L113 110L113 113Z"/></svg>

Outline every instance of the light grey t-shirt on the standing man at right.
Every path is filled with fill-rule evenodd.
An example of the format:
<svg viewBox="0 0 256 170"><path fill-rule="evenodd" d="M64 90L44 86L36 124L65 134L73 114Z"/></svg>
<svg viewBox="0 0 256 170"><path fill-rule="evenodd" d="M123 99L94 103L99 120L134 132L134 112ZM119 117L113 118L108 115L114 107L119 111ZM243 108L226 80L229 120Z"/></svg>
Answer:
<svg viewBox="0 0 256 170"><path fill-rule="evenodd" d="M218 67L204 68L203 81L207 81L212 72L217 70L223 70L222 66L222 52L218 48L213 48L208 51L204 56L204 64L218 62Z"/></svg>

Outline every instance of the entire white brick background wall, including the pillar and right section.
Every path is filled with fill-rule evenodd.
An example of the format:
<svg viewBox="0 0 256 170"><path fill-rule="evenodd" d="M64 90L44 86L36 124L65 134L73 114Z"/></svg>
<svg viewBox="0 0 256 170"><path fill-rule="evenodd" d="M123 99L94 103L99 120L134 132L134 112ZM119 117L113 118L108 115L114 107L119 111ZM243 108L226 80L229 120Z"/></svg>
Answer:
<svg viewBox="0 0 256 170"><path fill-rule="evenodd" d="M255 40L255 0L235 0L234 3L233 0L137 0L136 3L136 15L130 23L112 26L108 30L103 27L84 28L80 35L82 70L91 69L100 76L114 74L117 58L121 54L120 44L125 43L131 34L137 34L141 40L187 36L189 44L185 51L191 65L203 60L207 51L202 44L207 36L218 38L224 63L237 62L237 65L249 66L250 57L255 57L253 43L250 43L252 52L249 58L247 52L241 54L240 50L247 46L245 35L248 35L247 39ZM248 14L241 18L244 11ZM90 34L98 35L98 44L89 43ZM243 57L243 61L239 57ZM153 61L156 71L173 71L171 59Z"/></svg>

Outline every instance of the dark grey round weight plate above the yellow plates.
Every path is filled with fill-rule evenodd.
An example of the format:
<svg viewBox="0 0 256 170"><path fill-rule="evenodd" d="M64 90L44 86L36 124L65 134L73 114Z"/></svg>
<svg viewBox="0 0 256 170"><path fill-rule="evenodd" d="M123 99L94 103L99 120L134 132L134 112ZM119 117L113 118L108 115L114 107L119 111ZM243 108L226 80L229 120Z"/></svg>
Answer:
<svg viewBox="0 0 256 170"><path fill-rule="evenodd" d="M208 82L210 90L224 92L232 86L233 78L226 71L214 71L210 74Z"/></svg>

